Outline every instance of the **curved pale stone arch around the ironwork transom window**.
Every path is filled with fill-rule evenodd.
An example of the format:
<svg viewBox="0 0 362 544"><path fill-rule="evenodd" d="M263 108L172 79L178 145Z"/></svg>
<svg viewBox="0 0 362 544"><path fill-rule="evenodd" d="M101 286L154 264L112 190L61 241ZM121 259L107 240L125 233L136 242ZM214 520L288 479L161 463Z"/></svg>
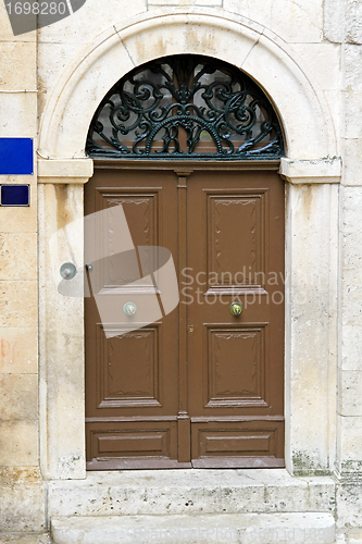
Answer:
<svg viewBox="0 0 362 544"><path fill-rule="evenodd" d="M176 53L215 57L255 79L278 112L287 158L337 156L323 92L286 44L247 18L199 8L175 9L172 15L162 10L142 14L114 25L86 47L61 76L46 106L40 157L85 158L89 123L107 91L135 66Z"/></svg>

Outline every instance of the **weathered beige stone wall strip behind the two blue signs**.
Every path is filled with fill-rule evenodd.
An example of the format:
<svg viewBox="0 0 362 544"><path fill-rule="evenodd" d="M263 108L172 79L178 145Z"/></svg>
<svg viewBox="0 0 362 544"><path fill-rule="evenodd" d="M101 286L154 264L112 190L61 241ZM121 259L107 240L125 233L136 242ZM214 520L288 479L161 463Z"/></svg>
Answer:
<svg viewBox="0 0 362 544"><path fill-rule="evenodd" d="M14 38L1 2L0 137L34 138L35 149L36 69L36 33ZM30 184L32 199L29 208L0 209L0 533L38 533L46 505L38 468L36 171L2 175L0 183Z"/></svg>

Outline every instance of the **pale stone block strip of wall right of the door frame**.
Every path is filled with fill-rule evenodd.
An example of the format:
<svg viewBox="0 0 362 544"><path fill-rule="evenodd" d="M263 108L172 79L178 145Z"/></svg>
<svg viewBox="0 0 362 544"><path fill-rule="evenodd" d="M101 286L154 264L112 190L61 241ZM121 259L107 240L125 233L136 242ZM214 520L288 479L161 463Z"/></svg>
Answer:
<svg viewBox="0 0 362 544"><path fill-rule="evenodd" d="M362 4L325 2L325 38L341 45L337 506L339 524L362 527ZM360 531L361 537L361 531Z"/></svg>

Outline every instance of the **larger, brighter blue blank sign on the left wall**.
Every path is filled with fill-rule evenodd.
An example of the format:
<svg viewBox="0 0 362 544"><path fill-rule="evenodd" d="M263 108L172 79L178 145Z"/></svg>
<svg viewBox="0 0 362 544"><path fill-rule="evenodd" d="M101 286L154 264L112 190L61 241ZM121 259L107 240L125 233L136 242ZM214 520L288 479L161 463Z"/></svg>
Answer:
<svg viewBox="0 0 362 544"><path fill-rule="evenodd" d="M32 138L0 138L0 175L34 173Z"/></svg>

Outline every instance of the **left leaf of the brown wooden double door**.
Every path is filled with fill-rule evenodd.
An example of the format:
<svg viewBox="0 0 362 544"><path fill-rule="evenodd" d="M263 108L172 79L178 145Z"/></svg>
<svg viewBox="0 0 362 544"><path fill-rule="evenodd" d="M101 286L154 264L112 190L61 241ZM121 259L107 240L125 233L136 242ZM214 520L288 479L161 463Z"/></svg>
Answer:
<svg viewBox="0 0 362 544"><path fill-rule="evenodd" d="M136 301L132 324L138 326L125 332L124 324L102 324L95 298L85 299L88 469L138 468L139 458L142 467L177 466L178 310L142 326L149 306L160 307L139 267L145 246L167 247L177 263L176 185L172 172L100 170L86 187L86 214L122 205L137 248L112 255L124 233L116 232L110 215L110 224L85 240L86 262L96 244L109 255L90 272L92 285L97 293L117 296L121 308ZM142 308L138 300L147 294ZM120 336L107 337L105 325Z"/></svg>

